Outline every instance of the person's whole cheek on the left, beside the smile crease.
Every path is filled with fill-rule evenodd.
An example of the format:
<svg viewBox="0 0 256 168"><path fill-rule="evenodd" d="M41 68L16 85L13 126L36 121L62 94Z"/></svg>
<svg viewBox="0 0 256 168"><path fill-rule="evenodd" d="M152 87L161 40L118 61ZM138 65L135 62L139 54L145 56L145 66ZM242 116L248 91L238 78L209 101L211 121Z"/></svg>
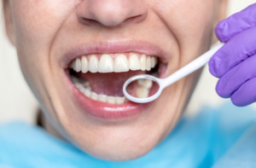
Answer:
<svg viewBox="0 0 256 168"><path fill-rule="evenodd" d="M49 69L51 43L77 1L11 0L15 43L21 70L30 81L42 81ZM41 79L40 79L41 78ZM32 87L36 84L30 84ZM39 84L40 85L40 84Z"/></svg>

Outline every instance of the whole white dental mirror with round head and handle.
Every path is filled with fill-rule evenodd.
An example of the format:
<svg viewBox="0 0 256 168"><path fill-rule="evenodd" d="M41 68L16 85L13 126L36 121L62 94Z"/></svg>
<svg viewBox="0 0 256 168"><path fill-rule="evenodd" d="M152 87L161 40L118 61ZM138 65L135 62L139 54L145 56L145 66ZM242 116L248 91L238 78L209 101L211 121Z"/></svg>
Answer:
<svg viewBox="0 0 256 168"><path fill-rule="evenodd" d="M128 78L123 85L125 97L137 103L154 101L167 86L205 66L207 62L210 61L212 55L223 46L224 43L219 43L216 47L208 50L205 54L191 61L188 65L172 73L172 75L167 78L156 78L148 74L140 74Z"/></svg>

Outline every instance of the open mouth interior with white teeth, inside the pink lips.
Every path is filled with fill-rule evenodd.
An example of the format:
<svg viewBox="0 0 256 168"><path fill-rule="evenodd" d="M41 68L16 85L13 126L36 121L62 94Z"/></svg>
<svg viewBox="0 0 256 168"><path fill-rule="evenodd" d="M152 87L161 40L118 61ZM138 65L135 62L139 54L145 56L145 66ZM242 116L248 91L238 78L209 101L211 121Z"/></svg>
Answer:
<svg viewBox="0 0 256 168"><path fill-rule="evenodd" d="M109 104L128 102L123 84L137 74L159 76L158 58L138 53L83 55L70 64L69 73L76 88L94 101ZM154 88L151 80L138 80L127 89L131 96L148 97Z"/></svg>

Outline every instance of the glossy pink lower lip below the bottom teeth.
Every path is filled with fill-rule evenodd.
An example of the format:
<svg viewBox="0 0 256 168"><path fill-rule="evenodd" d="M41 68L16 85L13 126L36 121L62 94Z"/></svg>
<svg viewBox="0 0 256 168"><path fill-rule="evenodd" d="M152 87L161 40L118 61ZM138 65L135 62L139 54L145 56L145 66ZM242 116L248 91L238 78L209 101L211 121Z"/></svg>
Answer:
<svg viewBox="0 0 256 168"><path fill-rule="evenodd" d="M87 96L84 96L73 84L70 79L68 70L66 71L67 83L70 85L74 100L78 102L79 107L84 113L89 114L93 118L103 120L121 120L137 117L140 113L145 112L151 104L138 104L135 102L125 102L123 104L114 105L102 101L94 101Z"/></svg>

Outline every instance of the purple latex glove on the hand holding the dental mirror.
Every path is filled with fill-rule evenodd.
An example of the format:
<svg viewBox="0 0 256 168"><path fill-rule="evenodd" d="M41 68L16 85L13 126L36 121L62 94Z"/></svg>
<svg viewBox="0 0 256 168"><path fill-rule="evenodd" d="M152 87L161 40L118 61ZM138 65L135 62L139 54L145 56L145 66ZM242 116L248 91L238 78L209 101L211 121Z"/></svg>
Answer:
<svg viewBox="0 0 256 168"><path fill-rule="evenodd" d="M236 106L256 101L256 3L218 23L216 35L225 45L209 61L219 78L216 91Z"/></svg>

